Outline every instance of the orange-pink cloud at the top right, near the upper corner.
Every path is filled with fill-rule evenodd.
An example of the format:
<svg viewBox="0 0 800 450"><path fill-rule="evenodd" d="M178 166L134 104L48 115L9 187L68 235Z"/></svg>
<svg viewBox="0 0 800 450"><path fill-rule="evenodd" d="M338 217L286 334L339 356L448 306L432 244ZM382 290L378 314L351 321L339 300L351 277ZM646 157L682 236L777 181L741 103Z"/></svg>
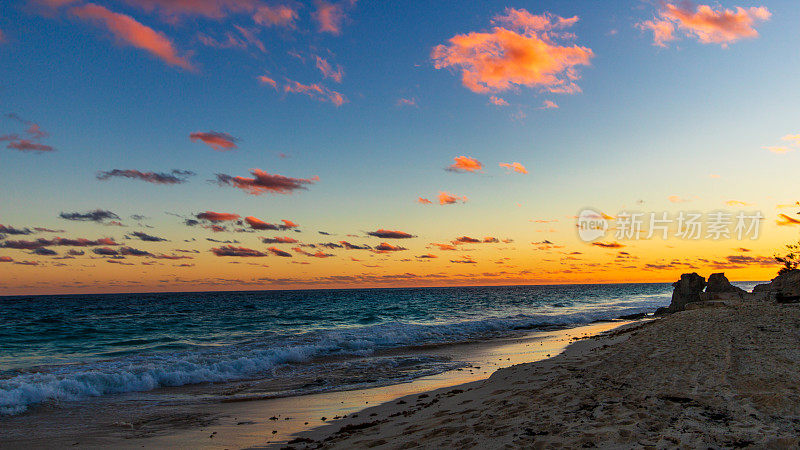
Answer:
<svg viewBox="0 0 800 450"><path fill-rule="evenodd" d="M740 39L758 37L755 23L769 20L771 16L772 13L763 6L714 10L711 6L699 5L694 10L690 3L667 3L659 11L658 18L644 21L637 26L652 30L654 44L662 47L666 46L666 42L676 39L676 29L704 44L720 44L725 47Z"/></svg>

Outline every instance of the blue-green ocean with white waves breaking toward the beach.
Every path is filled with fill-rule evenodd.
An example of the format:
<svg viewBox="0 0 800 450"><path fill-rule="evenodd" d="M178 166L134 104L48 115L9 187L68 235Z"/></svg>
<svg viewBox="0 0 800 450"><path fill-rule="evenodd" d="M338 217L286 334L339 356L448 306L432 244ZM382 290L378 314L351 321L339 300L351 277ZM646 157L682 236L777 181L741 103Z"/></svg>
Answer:
<svg viewBox="0 0 800 450"><path fill-rule="evenodd" d="M165 389L213 401L400 383L469 364L419 348L650 313L671 292L660 283L0 297L0 414Z"/></svg>

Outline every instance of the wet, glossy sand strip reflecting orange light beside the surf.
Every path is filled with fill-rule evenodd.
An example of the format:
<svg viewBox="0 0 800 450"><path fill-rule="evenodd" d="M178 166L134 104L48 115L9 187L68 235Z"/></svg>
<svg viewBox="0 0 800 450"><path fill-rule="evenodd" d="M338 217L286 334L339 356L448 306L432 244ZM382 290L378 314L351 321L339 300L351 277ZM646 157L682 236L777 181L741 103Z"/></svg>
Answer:
<svg viewBox="0 0 800 450"><path fill-rule="evenodd" d="M473 343L434 346L420 349L421 354L449 355L453 360L472 361L471 367L425 376L399 384L366 389L327 391L278 398L231 399L170 407L158 414L119 413L113 399L95 400L99 412L44 408L32 414L7 417L5 445L12 448L79 445L81 447L202 447L242 448L281 446L298 433L325 425L337 416L353 414L364 407L392 401L399 397L480 381L494 371L514 364L538 361L556 355L575 339L595 335L630 322L611 321L552 331L535 331L522 337L510 337ZM129 394L135 397L137 393ZM141 394L141 393L138 393ZM145 393L146 394L146 393ZM90 407L91 400L81 410ZM106 412L103 413L103 410ZM86 423L87 429L72 425ZM32 423L38 428L31 437L23 433ZM275 433L273 434L273 431Z"/></svg>

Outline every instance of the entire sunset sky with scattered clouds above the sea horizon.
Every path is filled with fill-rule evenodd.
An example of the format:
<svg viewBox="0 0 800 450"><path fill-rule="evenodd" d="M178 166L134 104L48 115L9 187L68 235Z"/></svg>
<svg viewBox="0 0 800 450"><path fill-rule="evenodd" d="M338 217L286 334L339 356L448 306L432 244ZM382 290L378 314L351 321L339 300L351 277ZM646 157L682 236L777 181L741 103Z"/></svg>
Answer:
<svg viewBox="0 0 800 450"><path fill-rule="evenodd" d="M772 278L797 6L3 2L0 295Z"/></svg>

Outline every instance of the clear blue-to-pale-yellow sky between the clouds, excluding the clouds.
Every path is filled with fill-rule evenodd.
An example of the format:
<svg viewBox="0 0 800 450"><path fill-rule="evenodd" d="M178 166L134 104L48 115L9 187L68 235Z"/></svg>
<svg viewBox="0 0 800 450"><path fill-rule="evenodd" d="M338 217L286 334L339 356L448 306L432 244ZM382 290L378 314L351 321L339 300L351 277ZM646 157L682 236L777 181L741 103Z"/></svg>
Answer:
<svg viewBox="0 0 800 450"><path fill-rule="evenodd" d="M793 201L798 188L797 152L777 155L763 148L785 145L782 136L800 132L800 9L794 2L711 4L714 11L764 7L771 16L755 23L757 37L704 43L676 32L667 47L637 28L662 17L661 6L650 2L340 3L338 35L319 31L312 20L319 3L284 2L297 11L294 28L255 24L247 8L260 3L241 3L244 10L223 6L220 17L209 18L96 2L162 33L196 71L169 65L72 12L89 2L0 5L2 112L37 123L50 135L43 142L57 150L2 149L0 223L121 236L57 217L100 208L120 217L146 215L174 242L184 234L205 235L164 212L188 217L225 211L289 218L306 233L408 229L424 239L413 249L420 253L430 241L469 233L524 243L541 237L531 230L531 219L567 222L584 206L616 211L640 199L648 208L675 207L667 200L671 195L704 210L742 200L769 210L772 218L774 204ZM476 93L462 84L458 67L434 67L435 46L456 35L490 32L492 19L507 8L579 17L568 28L574 39L559 43L590 48L594 55L590 65L576 68L581 92L516 84ZM237 25L252 30L266 51L202 43L202 36L241 38ZM323 77L314 55L342 67L341 83ZM261 75L277 80L279 88L260 83ZM319 84L347 102L336 106L282 92L286 80ZM490 95L509 105L490 104ZM415 104L400 105L400 99ZM545 100L558 108L541 109ZM216 152L190 141L197 131L227 133L238 138L237 148ZM17 121L0 119L0 134L21 132ZM483 172L443 171L459 155L483 162ZM499 162L520 162L529 173L508 174ZM260 196L210 181L216 173L246 176L253 168L320 180L290 195ZM197 176L174 186L95 178L111 169L182 169ZM468 201L415 202L439 191ZM569 233L570 225L560 227Z"/></svg>

